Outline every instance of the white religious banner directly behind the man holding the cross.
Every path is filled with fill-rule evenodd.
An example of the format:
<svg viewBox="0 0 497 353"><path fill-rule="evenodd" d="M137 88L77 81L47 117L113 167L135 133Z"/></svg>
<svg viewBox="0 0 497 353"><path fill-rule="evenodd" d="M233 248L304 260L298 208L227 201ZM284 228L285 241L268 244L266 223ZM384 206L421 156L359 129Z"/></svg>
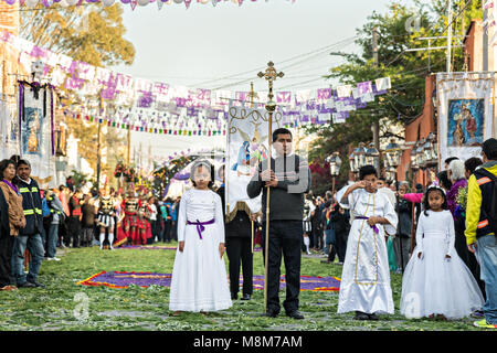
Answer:
<svg viewBox="0 0 497 353"><path fill-rule="evenodd" d="M281 113L273 114L273 131L283 127ZM226 218L230 222L236 212L247 213L261 211L261 195L250 199L246 186L258 163L268 157L267 139L268 114L265 109L233 106L230 103L226 133L226 164L224 168L224 184L226 200Z"/></svg>

